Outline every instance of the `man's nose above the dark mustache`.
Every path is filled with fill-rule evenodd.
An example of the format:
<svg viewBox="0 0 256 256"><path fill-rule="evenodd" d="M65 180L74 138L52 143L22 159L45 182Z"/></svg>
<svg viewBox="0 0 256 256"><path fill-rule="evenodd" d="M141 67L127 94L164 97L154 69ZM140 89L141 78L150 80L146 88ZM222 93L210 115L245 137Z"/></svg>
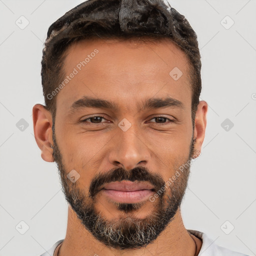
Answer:
<svg viewBox="0 0 256 256"><path fill-rule="evenodd" d="M108 151L108 160L112 165L126 170L145 165L150 159L150 150L146 141L135 131L134 126L118 130L112 138Z"/></svg>

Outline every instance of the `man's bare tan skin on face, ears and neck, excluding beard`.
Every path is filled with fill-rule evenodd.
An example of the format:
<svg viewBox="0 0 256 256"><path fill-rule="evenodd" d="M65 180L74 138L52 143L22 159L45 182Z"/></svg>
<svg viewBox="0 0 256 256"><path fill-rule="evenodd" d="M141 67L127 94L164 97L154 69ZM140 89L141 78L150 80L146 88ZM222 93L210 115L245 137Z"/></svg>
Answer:
<svg viewBox="0 0 256 256"><path fill-rule="evenodd" d="M207 103L197 107L194 133L191 119L191 88L188 60L184 53L166 39L157 42L135 42L90 39L72 44L66 51L64 72L73 68L95 48L99 52L63 87L56 96L55 134L66 170L80 174L79 187L88 189L91 179L122 166L127 170L145 166L159 173L163 180L174 174L174 166L184 162L192 136L195 151L201 151L206 127ZM169 72L178 67L183 75L174 80ZM82 107L70 112L72 103L83 96L114 102L116 110ZM166 96L181 101L180 107L140 109L148 98ZM100 124L80 120L104 115ZM153 117L164 116L174 122L157 123ZM126 118L131 127L125 132L118 123ZM52 160L52 116L43 105L33 107L34 135L41 157ZM95 197L96 209L107 219L117 219L123 212L116 209L105 195ZM147 201L136 213L150 214L153 203ZM197 253L201 241L193 236ZM145 248L118 250L105 246L90 234L75 212L68 208L66 237L58 255L194 255L194 241L183 225L180 209L156 240Z"/></svg>

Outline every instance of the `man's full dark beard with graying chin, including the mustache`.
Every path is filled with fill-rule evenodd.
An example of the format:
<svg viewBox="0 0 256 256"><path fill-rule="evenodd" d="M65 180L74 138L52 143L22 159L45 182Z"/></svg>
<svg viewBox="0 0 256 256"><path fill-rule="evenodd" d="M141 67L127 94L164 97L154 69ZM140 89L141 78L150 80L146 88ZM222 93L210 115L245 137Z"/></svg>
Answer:
<svg viewBox="0 0 256 256"><path fill-rule="evenodd" d="M77 182L71 182L67 178L68 171L64 167L56 137L53 131L53 159L57 164L62 191L66 201L76 213L82 225L100 242L108 247L116 249L140 248L154 241L167 225L174 219L174 215L180 207L183 199L187 180L190 172L190 161L194 153L195 139L191 140L190 151L187 161L179 164L183 167L180 175L172 181L171 185L158 194L153 203L152 211L143 219L135 217L134 212L148 200L138 203L118 203L116 208L125 214L118 219L109 220L95 209L96 196L99 194L99 187L112 181L148 181L154 186L155 193L160 191L166 184L163 178L150 172L145 167L135 167L131 170L118 167L104 173L98 173L90 182L86 194L84 189L77 186ZM189 162L189 164L187 163ZM178 167L177 166L177 167ZM174 170L177 168L173 168ZM171 172L173 173L173 172ZM81 172L80 172L81 174Z"/></svg>

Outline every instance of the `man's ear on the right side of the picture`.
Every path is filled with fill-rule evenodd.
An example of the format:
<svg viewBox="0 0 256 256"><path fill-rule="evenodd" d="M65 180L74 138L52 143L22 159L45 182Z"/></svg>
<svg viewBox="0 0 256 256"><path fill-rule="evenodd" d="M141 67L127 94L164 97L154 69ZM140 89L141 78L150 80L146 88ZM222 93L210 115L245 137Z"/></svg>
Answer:
<svg viewBox="0 0 256 256"><path fill-rule="evenodd" d="M194 143L194 151L201 152L201 146L205 135L206 128L206 113L208 105L204 100L199 101L194 118L194 134L193 138L196 138Z"/></svg>

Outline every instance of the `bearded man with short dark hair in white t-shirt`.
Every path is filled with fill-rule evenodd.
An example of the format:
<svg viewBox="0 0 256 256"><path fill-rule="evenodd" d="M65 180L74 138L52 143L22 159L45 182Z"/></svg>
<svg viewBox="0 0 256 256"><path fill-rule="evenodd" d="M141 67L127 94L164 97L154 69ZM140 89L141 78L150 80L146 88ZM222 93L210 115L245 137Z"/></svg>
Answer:
<svg viewBox="0 0 256 256"><path fill-rule="evenodd" d="M243 255L185 229L207 103L196 34L162 0L88 0L48 30L34 135L69 203L43 255Z"/></svg>

